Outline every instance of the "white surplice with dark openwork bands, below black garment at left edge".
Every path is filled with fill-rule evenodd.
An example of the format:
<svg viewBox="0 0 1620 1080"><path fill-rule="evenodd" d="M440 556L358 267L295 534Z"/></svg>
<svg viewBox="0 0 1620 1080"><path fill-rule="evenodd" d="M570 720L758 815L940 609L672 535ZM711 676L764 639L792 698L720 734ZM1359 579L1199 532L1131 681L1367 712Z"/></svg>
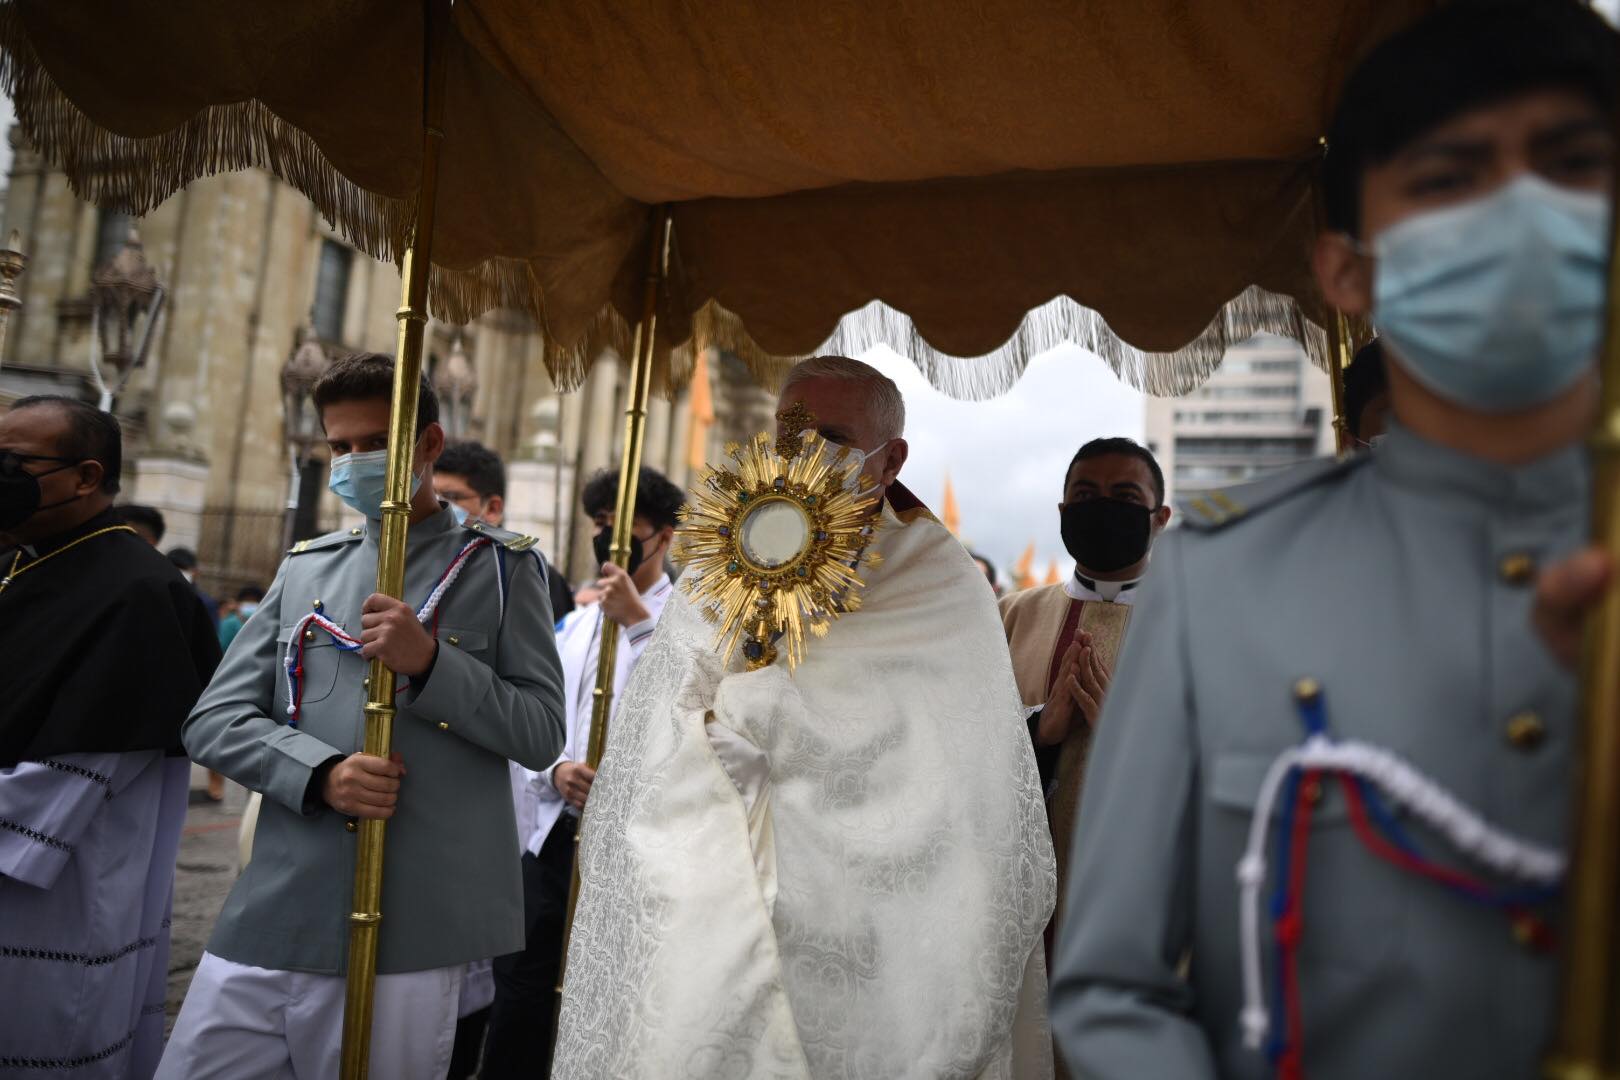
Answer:
<svg viewBox="0 0 1620 1080"><path fill-rule="evenodd" d="M0 1075L152 1075L190 776L159 750L0 769Z"/></svg>

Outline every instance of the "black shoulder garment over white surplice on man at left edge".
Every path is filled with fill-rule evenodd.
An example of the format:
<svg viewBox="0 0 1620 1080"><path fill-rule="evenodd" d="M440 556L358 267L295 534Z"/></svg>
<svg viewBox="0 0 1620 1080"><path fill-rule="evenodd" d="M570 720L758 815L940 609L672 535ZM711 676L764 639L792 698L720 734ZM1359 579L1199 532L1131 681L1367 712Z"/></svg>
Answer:
<svg viewBox="0 0 1620 1080"><path fill-rule="evenodd" d="M23 552L0 591L0 767L63 753L181 753L180 725L219 664L191 583L109 510ZM60 552L26 570L34 559ZM18 551L0 551L0 576Z"/></svg>

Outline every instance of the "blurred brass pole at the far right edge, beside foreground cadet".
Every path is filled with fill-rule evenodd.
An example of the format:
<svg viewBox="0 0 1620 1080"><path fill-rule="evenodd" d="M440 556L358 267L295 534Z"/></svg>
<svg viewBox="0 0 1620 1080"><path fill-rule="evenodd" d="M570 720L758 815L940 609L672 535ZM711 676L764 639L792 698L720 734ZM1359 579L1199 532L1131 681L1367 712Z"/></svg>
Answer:
<svg viewBox="0 0 1620 1080"><path fill-rule="evenodd" d="M1620 215L1614 217L1620 227ZM1592 434L1592 539L1620 565L1620 261L1609 257L1602 408ZM1580 784L1567 894L1558 1035L1547 1077L1620 1077L1620 589L1586 627Z"/></svg>

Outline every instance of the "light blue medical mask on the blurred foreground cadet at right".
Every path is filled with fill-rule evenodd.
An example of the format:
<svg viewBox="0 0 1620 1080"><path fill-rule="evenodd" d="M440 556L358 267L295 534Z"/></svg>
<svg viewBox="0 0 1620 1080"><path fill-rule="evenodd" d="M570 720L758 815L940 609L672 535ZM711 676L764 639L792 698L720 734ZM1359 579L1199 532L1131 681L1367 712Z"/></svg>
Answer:
<svg viewBox="0 0 1620 1080"><path fill-rule="evenodd" d="M1597 359L1607 248L1607 196L1528 173L1374 236L1372 322L1448 402L1534 408Z"/></svg>

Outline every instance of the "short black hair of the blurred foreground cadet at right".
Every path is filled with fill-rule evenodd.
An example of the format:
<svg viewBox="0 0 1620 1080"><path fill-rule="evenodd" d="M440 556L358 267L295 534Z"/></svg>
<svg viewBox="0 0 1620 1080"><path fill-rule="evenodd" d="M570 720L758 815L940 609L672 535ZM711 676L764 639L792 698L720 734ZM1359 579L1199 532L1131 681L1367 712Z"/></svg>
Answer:
<svg viewBox="0 0 1620 1080"><path fill-rule="evenodd" d="M1460 113L1542 89L1614 115L1615 31L1575 0L1453 0L1374 49L1345 81L1327 136L1327 225L1361 230L1361 176Z"/></svg>

